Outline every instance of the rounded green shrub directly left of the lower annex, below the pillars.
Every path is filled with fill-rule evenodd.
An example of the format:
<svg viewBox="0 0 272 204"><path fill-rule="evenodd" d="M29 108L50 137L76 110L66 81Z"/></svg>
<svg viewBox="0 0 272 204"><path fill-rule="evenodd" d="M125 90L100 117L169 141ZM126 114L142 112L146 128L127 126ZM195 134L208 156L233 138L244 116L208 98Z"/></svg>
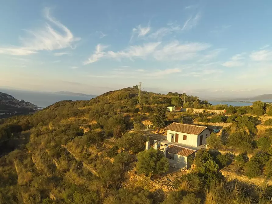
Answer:
<svg viewBox="0 0 272 204"><path fill-rule="evenodd" d="M136 170L140 174L159 175L169 169L169 163L164 154L157 149L149 149L138 154Z"/></svg>

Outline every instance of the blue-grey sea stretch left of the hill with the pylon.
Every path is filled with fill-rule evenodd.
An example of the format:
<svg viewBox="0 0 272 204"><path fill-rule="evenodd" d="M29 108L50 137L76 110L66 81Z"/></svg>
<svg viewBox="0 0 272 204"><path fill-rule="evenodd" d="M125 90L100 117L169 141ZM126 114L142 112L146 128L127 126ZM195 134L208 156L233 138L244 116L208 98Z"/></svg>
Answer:
<svg viewBox="0 0 272 204"><path fill-rule="evenodd" d="M48 107L61 100L90 100L91 97L85 96L71 96L58 93L48 93L48 92L33 92L33 91L21 91L21 90L6 90L0 89L0 92L12 95L18 100L28 101L38 107Z"/></svg>

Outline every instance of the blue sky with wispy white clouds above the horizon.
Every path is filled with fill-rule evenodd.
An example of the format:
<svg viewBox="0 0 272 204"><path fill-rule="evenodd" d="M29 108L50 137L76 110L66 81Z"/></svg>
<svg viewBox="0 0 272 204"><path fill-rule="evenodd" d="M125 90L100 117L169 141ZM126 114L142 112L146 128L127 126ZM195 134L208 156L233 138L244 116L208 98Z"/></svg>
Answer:
<svg viewBox="0 0 272 204"><path fill-rule="evenodd" d="M272 93L271 1L2 1L0 87Z"/></svg>

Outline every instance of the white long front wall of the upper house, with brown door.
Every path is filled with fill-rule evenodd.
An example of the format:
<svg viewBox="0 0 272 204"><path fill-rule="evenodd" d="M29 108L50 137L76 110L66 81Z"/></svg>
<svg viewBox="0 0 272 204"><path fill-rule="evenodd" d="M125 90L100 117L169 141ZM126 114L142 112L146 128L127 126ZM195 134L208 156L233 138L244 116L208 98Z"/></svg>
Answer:
<svg viewBox="0 0 272 204"><path fill-rule="evenodd" d="M178 143L181 143L184 145L189 145L189 146L194 146L194 147L196 147L199 144L199 142L197 140L197 138L198 138L197 135L192 135L192 134L187 134L187 133L182 133L182 132L175 132L172 130L167 130L167 140L169 142L175 142L176 133L178 134ZM172 134L174 134L173 139L171 139ZM187 136L186 140L183 140L183 135Z"/></svg>

